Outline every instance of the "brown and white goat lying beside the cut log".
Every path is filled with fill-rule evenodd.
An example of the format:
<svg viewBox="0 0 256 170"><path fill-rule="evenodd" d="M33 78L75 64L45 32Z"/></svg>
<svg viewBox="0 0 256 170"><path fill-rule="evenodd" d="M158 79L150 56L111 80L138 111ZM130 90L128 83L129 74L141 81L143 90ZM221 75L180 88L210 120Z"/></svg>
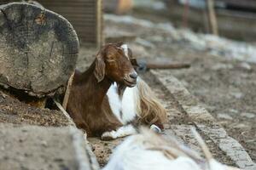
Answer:
<svg viewBox="0 0 256 170"><path fill-rule="evenodd" d="M166 111L132 64L131 49L111 43L87 71L75 71L67 112L88 136L116 139L136 133L139 124L163 128Z"/></svg>

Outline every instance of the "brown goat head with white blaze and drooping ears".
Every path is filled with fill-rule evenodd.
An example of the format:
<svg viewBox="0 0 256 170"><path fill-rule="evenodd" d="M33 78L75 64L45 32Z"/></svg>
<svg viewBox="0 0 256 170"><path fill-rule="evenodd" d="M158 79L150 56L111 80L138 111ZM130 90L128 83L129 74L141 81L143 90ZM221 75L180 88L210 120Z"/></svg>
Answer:
<svg viewBox="0 0 256 170"><path fill-rule="evenodd" d="M108 77L113 82L134 87L137 83L134 65L137 61L132 58L131 49L126 44L109 43L96 55L94 75L98 82Z"/></svg>

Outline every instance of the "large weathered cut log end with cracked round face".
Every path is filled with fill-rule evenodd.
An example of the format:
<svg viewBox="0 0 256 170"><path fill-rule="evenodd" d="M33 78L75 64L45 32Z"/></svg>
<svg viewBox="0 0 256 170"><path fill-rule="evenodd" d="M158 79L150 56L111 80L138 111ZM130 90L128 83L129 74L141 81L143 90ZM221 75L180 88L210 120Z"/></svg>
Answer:
<svg viewBox="0 0 256 170"><path fill-rule="evenodd" d="M67 86L79 54L73 26L61 15L28 3L0 6L0 84L31 96Z"/></svg>

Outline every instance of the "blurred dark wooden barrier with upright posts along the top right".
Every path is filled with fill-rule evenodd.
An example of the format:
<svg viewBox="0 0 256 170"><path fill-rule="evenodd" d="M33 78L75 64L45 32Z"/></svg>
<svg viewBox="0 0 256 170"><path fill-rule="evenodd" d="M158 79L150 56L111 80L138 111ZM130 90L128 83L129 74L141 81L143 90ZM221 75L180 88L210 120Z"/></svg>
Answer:
<svg viewBox="0 0 256 170"><path fill-rule="evenodd" d="M154 21L165 18L176 27L237 40L255 40L256 2L253 0L128 0L104 1L105 11L141 14ZM153 17L152 15L160 16Z"/></svg>

